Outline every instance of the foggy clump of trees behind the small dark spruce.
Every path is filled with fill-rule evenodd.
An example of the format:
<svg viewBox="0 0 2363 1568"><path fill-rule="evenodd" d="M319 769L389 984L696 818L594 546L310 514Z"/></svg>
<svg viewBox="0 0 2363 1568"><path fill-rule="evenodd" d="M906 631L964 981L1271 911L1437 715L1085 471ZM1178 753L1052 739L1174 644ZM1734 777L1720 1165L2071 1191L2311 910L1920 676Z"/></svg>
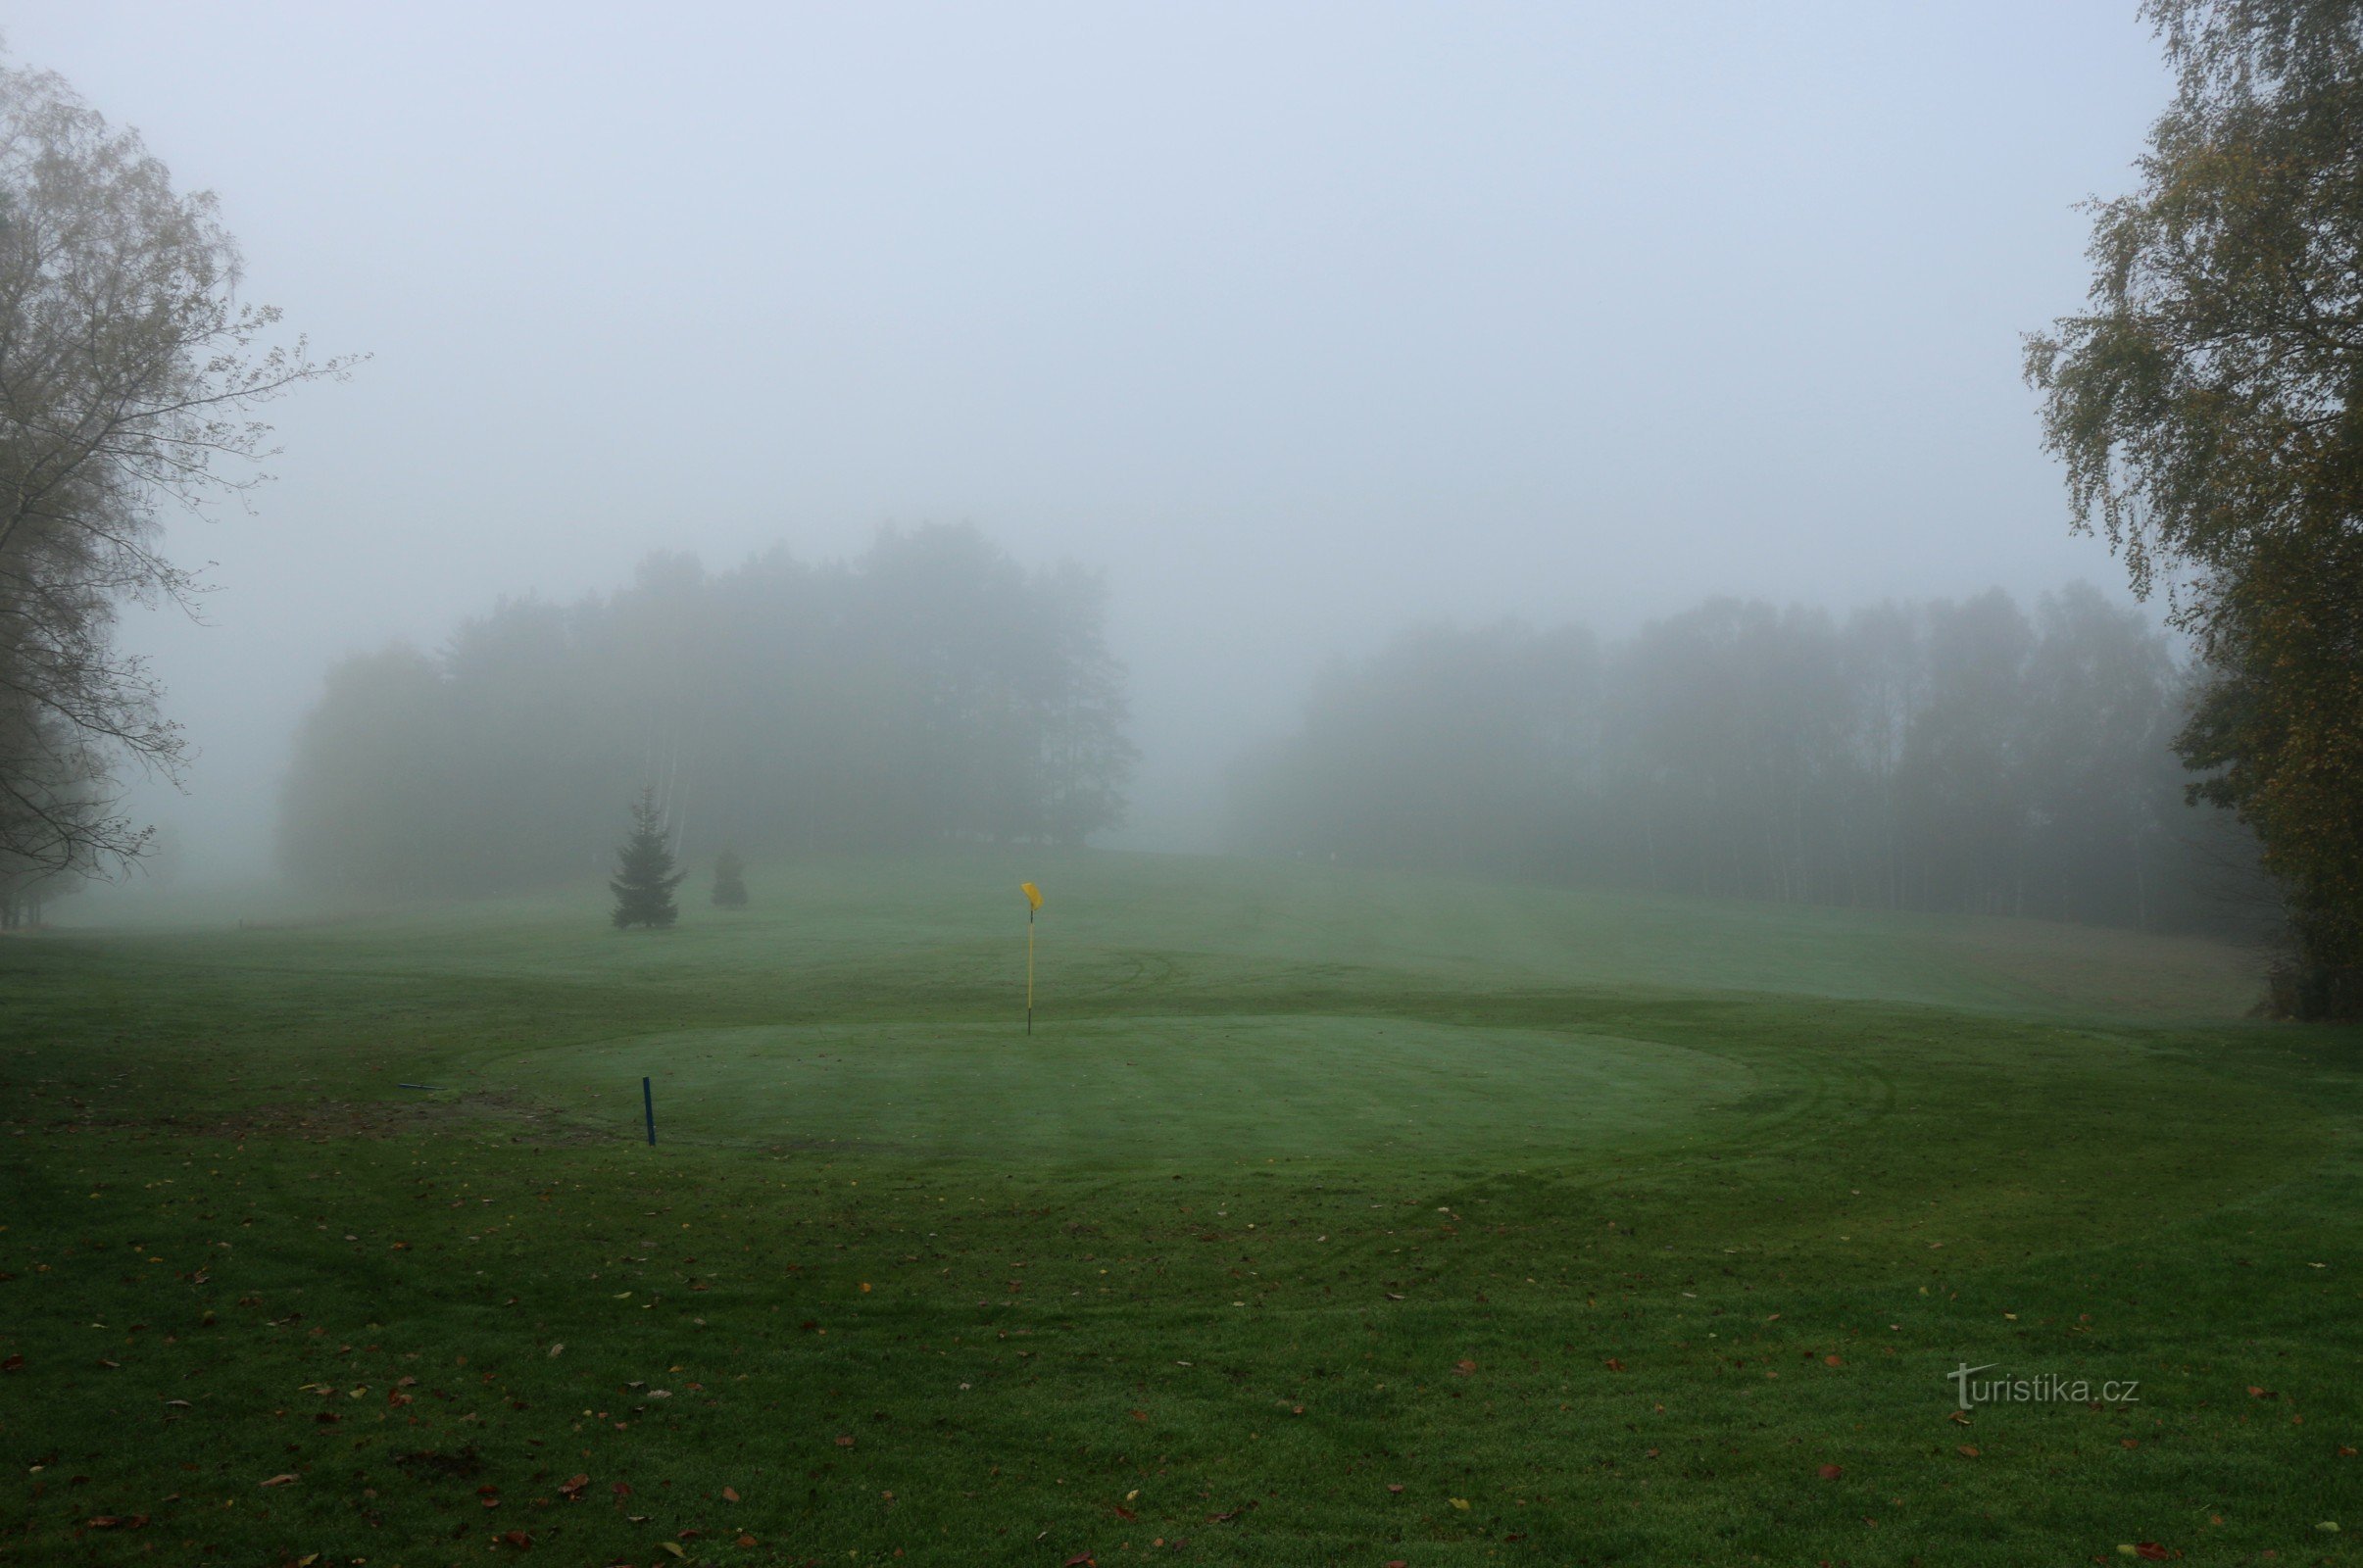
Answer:
<svg viewBox="0 0 2363 1568"><path fill-rule="evenodd" d="M711 574L657 555L577 605L510 600L437 654L347 659L305 718L281 862L347 895L605 871L655 786L692 862L950 841L1082 843L1134 749L1104 586L966 527Z"/></svg>

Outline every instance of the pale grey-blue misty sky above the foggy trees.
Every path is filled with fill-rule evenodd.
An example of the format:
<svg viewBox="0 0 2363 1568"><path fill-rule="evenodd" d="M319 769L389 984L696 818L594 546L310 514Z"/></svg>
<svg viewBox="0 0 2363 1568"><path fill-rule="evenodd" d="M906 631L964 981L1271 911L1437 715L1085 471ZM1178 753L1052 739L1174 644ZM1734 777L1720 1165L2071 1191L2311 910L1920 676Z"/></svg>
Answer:
<svg viewBox="0 0 2363 1568"><path fill-rule="evenodd" d="M1111 571L1148 841L1406 621L2091 579L2018 335L2167 97L2124 5L128 5L7 40L376 359L128 631L260 864L345 652L981 524Z"/></svg>

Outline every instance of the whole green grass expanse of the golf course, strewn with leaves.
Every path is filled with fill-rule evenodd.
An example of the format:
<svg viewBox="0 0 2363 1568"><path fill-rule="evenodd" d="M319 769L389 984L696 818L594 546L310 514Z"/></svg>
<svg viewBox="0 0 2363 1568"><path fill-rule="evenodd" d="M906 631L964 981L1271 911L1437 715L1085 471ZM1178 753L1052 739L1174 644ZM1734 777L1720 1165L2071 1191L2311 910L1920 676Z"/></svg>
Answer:
<svg viewBox="0 0 2363 1568"><path fill-rule="evenodd" d="M655 935L584 888L0 942L0 1561L2363 1533L2363 1039L2242 1020L2247 954L1179 857L749 881ZM1961 1412L1961 1365L2094 1393Z"/></svg>

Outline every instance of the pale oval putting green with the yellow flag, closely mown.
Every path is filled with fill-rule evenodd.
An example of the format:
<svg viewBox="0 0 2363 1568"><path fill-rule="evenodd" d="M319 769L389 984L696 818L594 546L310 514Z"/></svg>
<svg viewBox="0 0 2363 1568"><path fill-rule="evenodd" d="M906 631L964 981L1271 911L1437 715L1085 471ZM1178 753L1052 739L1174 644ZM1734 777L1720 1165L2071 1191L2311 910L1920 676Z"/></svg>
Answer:
<svg viewBox="0 0 2363 1568"><path fill-rule="evenodd" d="M1404 1018L1115 1018L697 1030L510 1063L584 1122L640 1129L652 1070L690 1141L1127 1171L1212 1155L1446 1169L1661 1141L1746 1093L1685 1046ZM624 1086L624 1089L619 1089Z"/></svg>

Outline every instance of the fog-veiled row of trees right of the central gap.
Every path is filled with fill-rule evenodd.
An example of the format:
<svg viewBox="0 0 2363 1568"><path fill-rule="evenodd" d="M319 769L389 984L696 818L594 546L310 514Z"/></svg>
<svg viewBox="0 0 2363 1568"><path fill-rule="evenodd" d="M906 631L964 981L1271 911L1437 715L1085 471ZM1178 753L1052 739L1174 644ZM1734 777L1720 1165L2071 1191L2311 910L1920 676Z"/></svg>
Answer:
<svg viewBox="0 0 2363 1568"><path fill-rule="evenodd" d="M2254 845L2183 803L2191 690L2084 586L2032 616L1713 600L1621 645L1432 628L1330 671L1231 819L1340 864L2250 930Z"/></svg>

